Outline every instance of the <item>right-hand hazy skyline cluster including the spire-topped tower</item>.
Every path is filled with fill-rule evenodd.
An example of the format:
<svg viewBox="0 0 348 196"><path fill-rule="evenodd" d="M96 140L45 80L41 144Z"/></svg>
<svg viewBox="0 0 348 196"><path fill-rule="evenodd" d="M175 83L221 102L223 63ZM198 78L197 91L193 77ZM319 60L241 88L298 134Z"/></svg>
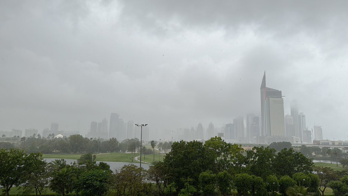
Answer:
<svg viewBox="0 0 348 196"><path fill-rule="evenodd" d="M233 123L215 128L210 123L206 131L199 123L197 128L177 129L176 138L190 141L221 136L231 143L267 144L285 141L311 144L313 133L314 140L323 140L321 126L315 125L312 130L308 130L306 115L299 112L295 101L291 104L291 114L284 116L282 91L266 86L266 72L262 78L260 93L261 116L247 114L245 121L243 116L239 116L233 119Z"/></svg>

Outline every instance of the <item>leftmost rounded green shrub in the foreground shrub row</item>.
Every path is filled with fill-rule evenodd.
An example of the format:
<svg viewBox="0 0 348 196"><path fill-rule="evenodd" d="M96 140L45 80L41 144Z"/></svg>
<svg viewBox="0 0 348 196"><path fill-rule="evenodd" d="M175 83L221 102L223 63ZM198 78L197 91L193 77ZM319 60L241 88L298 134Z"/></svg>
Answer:
<svg viewBox="0 0 348 196"><path fill-rule="evenodd" d="M214 195L216 187L216 174L206 171L199 174L199 186L204 195Z"/></svg>

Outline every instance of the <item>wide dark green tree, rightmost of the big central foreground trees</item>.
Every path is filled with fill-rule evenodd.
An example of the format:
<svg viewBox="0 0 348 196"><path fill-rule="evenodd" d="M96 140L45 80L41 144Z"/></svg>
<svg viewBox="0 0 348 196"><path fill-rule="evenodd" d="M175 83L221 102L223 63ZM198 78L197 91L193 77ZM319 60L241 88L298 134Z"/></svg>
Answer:
<svg viewBox="0 0 348 196"><path fill-rule="evenodd" d="M314 164L311 159L307 159L302 153L295 152L291 148L278 152L272 165L278 176L292 176L297 172L309 173L313 171Z"/></svg>

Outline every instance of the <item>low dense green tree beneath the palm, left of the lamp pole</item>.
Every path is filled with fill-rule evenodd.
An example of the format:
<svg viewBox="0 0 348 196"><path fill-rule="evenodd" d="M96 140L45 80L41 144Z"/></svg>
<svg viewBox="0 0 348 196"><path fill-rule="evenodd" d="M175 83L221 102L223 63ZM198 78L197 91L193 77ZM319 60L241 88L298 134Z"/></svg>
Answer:
<svg viewBox="0 0 348 196"><path fill-rule="evenodd" d="M75 188L81 195L102 196L109 189L110 173L105 170L91 170L82 173L76 181Z"/></svg>

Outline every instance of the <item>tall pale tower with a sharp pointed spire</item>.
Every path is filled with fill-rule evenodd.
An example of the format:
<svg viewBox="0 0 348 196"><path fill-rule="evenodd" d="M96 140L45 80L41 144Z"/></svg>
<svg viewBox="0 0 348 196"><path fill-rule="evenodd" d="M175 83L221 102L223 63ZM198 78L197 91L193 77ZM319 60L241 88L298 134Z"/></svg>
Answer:
<svg viewBox="0 0 348 196"><path fill-rule="evenodd" d="M285 136L282 91L266 87L266 71L261 83L261 117L263 136Z"/></svg>

